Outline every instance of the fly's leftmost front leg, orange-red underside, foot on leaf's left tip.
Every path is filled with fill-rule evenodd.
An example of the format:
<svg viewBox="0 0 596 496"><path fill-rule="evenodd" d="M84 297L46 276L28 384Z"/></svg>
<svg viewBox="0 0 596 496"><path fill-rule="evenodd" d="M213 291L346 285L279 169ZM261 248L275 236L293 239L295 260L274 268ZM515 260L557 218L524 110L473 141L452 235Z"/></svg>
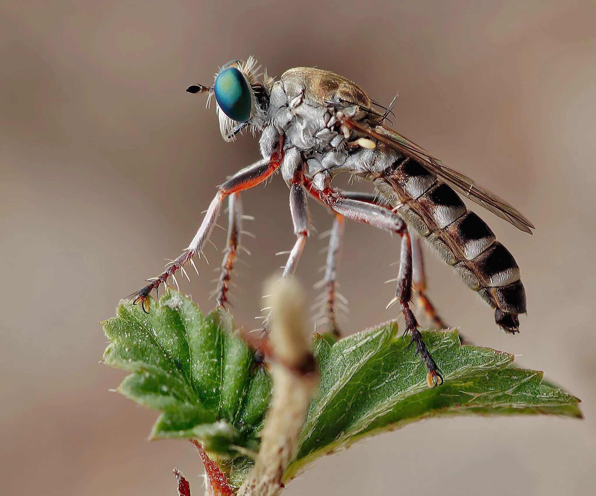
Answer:
<svg viewBox="0 0 596 496"><path fill-rule="evenodd" d="M244 168L219 187L215 198L213 198L209 208L207 208L207 213L203 218L203 222L199 226L193 241L191 241L190 245L188 245L188 248L186 248L182 254L176 258L176 260L173 260L167 269L157 276L157 278L149 279L148 285L143 286L141 289L131 295L131 297L135 297L133 301L134 304L140 303L142 310L145 313L148 313L149 295L153 289L159 291L160 285L166 284L167 279L170 277L174 280L176 285L178 285L175 273L178 272L178 270L182 270L182 272L186 274L184 266L189 262L193 264L194 267L193 257L197 254L200 256L200 252L203 249L205 242L207 239L209 239L209 236L213 230L213 226L215 225L215 221L219 217L219 212L221 211L224 198L228 195L232 195L232 193L237 193L262 183L262 181L268 178L275 172L275 170L277 170L278 167L280 167L282 158L281 155L281 149L278 149L277 152L272 154L270 159L261 160L247 168Z"/></svg>

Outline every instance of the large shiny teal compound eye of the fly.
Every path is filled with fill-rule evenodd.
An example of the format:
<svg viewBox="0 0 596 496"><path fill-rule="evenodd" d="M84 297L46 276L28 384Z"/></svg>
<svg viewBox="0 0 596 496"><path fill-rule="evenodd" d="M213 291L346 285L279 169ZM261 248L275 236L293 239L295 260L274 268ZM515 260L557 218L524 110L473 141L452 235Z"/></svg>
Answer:
<svg viewBox="0 0 596 496"><path fill-rule="evenodd" d="M236 67L222 70L215 79L213 91L219 108L232 121L249 121L252 108L250 88L240 70Z"/></svg>

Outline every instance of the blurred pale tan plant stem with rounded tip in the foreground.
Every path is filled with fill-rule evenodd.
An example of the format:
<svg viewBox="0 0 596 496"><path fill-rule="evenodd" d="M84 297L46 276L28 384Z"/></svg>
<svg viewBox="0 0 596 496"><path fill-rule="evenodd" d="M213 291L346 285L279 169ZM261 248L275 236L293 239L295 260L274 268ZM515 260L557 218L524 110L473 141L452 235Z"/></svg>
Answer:
<svg viewBox="0 0 596 496"><path fill-rule="evenodd" d="M306 297L291 278L268 285L271 303L273 401L261 433L259 454L239 496L274 496L298 448L306 409L316 391L318 371L306 331Z"/></svg>

